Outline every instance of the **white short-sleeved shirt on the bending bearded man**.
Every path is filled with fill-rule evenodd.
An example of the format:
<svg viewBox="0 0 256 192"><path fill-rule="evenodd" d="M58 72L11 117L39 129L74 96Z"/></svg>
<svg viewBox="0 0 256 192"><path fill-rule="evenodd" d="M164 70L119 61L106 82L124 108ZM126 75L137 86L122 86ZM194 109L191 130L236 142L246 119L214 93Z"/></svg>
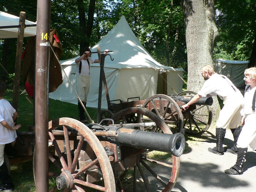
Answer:
<svg viewBox="0 0 256 192"><path fill-rule="evenodd" d="M198 91L197 94L202 97L206 97L208 94L212 96L219 95L219 97L224 101L227 98L243 98L241 92L226 76L216 73L204 82L202 89Z"/></svg>

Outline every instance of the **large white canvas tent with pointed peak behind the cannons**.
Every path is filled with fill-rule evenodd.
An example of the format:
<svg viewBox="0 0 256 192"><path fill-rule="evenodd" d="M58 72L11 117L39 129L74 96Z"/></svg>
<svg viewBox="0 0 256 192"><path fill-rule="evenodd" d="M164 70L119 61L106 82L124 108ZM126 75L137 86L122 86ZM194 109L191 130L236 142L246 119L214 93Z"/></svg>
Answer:
<svg viewBox="0 0 256 192"><path fill-rule="evenodd" d="M101 51L105 49L113 51L109 54L114 60L111 61L110 57L106 56L104 67L110 100L121 99L127 101L131 97L147 99L157 94L157 90L159 93L160 89L157 89L157 87L164 87L165 80L162 79L162 76L166 78L167 90L165 92L167 94L175 94L175 92L182 91L182 79L180 76L183 76L183 69L167 67L154 60L133 34L124 16L98 44L91 48L92 52L97 52L97 46L100 47ZM64 71L68 74L75 88L76 76L72 73L76 72L76 58L61 61ZM92 58L98 59L98 54L92 54ZM162 71L166 73L160 75L159 72ZM99 72L99 64L91 65L91 83L87 106L93 108L98 106ZM74 104L78 103L77 97L64 73L63 83L56 91L50 93L49 97ZM102 109L108 108L104 90L102 91L101 107Z"/></svg>

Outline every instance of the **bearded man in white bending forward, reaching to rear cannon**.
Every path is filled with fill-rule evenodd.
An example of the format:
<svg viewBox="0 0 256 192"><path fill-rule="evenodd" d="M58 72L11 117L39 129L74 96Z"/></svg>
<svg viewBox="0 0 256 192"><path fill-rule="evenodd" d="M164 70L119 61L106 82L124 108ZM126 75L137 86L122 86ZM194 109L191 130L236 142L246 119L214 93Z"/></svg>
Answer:
<svg viewBox="0 0 256 192"><path fill-rule="evenodd" d="M226 134L226 128L229 126L235 143L240 132L239 125L243 106L243 96L234 84L224 75L216 74L211 65L205 65L202 68L202 76L206 82L198 93L183 105L183 109L188 109L189 105L197 102L201 97L219 96L223 100L223 108L219 112L219 118L216 122L216 147L208 148L208 151L217 155L223 155L223 140ZM235 134L235 135L234 135ZM236 144L231 150L236 150Z"/></svg>

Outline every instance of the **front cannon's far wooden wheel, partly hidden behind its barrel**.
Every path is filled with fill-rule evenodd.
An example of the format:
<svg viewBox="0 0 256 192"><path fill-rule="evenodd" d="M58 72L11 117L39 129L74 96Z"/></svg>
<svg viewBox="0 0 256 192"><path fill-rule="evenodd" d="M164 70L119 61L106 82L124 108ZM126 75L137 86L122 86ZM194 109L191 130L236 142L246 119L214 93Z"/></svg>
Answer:
<svg viewBox="0 0 256 192"><path fill-rule="evenodd" d="M126 123L127 121L131 120L131 117L133 117L132 119L136 120L137 123L145 123L146 121L154 121L156 123L156 126L154 127L144 127L144 131L154 131L159 132L159 134L161 134L161 132L172 134L169 126L167 126L159 116L144 108L123 109L120 112L114 114L113 120L115 123ZM135 129L136 128L140 129L141 127L135 127ZM162 158L165 158L165 160L157 158L158 155L162 156ZM130 177L133 179L133 192L170 192L176 183L179 170L179 157L175 157L174 155L170 155L168 153L157 153L156 151L146 150L143 154L138 155L138 161L133 167L133 173L129 175L127 170L120 173L120 177L117 178L117 183L120 182L120 186L124 187L125 184L123 184L122 179L126 177L125 181L127 181L127 179ZM138 182L140 178L142 178L144 182L144 185L142 186L139 185L140 182ZM152 186L154 186L154 189L152 189ZM155 186L158 186L157 189L155 189ZM128 191L132 191L131 188Z"/></svg>

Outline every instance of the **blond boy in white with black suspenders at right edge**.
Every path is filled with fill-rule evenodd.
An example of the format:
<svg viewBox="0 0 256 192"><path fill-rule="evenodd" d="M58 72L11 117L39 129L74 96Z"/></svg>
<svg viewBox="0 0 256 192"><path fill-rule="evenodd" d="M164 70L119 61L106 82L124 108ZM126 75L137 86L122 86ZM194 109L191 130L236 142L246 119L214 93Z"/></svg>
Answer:
<svg viewBox="0 0 256 192"><path fill-rule="evenodd" d="M256 148L256 67L246 69L244 75L246 87L244 93L244 107L241 111L241 124L244 125L244 127L237 140L238 154L236 164L230 169L225 170L225 173L230 175L240 175L243 173L248 146L253 150Z"/></svg>

